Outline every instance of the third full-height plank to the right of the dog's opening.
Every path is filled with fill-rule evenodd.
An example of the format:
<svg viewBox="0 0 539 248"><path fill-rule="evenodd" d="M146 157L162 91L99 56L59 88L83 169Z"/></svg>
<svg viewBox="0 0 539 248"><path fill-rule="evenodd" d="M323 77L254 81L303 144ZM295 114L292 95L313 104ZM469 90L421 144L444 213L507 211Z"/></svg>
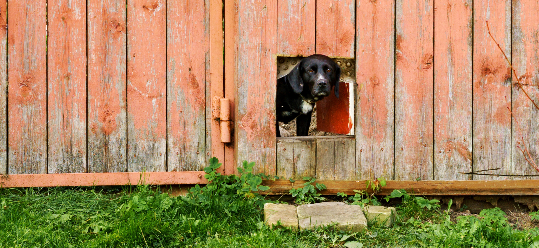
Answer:
<svg viewBox="0 0 539 248"><path fill-rule="evenodd" d="M434 2L434 180L471 180L472 0Z"/></svg>

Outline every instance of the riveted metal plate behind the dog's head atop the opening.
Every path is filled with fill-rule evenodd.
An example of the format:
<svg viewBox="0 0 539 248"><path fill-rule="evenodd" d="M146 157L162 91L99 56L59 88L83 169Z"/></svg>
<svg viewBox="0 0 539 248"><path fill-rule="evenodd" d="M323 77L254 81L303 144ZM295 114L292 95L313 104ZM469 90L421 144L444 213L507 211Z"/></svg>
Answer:
<svg viewBox="0 0 539 248"><path fill-rule="evenodd" d="M303 57L277 57L277 79L290 73ZM356 62L354 59L333 58L341 67L341 82L356 82Z"/></svg>

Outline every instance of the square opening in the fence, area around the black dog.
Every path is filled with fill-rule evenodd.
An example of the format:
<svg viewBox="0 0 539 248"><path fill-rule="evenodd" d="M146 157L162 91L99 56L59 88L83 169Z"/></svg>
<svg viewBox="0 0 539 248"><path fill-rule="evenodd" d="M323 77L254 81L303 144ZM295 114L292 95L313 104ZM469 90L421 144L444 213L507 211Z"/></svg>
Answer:
<svg viewBox="0 0 539 248"><path fill-rule="evenodd" d="M288 75L303 57L277 57L277 79ZM308 136L354 135L356 62L354 59L333 58L341 68L339 97L335 87L329 96L316 102ZM281 136L296 136L296 119L289 123L279 122Z"/></svg>

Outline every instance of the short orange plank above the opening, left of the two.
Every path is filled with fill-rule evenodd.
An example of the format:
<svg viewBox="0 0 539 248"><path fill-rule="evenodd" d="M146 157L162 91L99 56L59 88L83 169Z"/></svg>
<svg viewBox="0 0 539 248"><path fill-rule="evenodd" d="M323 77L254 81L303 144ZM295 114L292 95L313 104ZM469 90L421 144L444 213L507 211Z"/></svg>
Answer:
<svg viewBox="0 0 539 248"><path fill-rule="evenodd" d="M277 1L277 55L315 53L316 1Z"/></svg>

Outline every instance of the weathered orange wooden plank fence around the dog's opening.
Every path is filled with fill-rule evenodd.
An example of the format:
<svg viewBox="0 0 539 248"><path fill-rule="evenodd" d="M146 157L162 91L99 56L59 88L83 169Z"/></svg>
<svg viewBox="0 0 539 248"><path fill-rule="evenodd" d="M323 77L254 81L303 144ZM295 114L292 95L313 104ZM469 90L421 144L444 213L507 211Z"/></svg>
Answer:
<svg viewBox="0 0 539 248"><path fill-rule="evenodd" d="M0 184L203 183L213 156L285 178L538 179L520 148L539 161L539 111L486 26L537 99L537 13L535 0L0 0ZM355 135L277 139L277 57L314 53L355 59Z"/></svg>

